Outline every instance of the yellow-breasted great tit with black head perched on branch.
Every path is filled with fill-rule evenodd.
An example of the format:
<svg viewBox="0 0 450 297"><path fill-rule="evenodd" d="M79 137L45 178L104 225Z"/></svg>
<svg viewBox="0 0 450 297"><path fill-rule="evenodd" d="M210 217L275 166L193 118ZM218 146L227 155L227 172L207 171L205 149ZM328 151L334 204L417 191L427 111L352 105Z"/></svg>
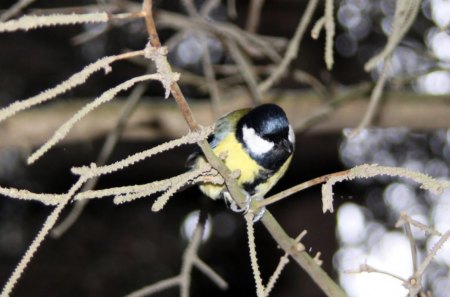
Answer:
<svg viewBox="0 0 450 297"><path fill-rule="evenodd" d="M208 142L217 156L225 156L224 163L230 171L239 170L237 183L245 191L248 207L252 199L263 199L286 172L294 152L295 135L278 105L263 104L221 117ZM199 152L188 159L191 168L205 162ZM204 183L199 187L212 199L229 200L232 209L237 210L224 185Z"/></svg>

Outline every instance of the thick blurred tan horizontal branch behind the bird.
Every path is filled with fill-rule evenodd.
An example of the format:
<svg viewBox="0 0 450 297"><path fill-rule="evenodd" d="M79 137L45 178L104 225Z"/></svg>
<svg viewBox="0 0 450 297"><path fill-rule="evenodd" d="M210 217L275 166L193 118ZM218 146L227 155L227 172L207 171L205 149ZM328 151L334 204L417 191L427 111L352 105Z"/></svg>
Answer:
<svg viewBox="0 0 450 297"><path fill-rule="evenodd" d="M310 91L286 91L277 93L277 104L287 113L293 127L299 131L308 128L309 133L340 133L343 128L355 127L361 121L361 114L368 108L365 93L369 90L355 86L336 90L335 99L325 103ZM268 93L263 102L273 102L275 94ZM302 98L302 100L298 100ZM450 126L449 97L414 94L411 92L387 92L378 107L377 127L408 127L412 130L435 130ZM0 125L0 148L36 146L42 144L61 122L73 115L87 101L70 100L54 103L16 114ZM102 137L114 128L116 115L123 108L123 100L111 102L101 109L94 110L91 116L73 127L70 134L62 140L67 142L89 141ZM229 92L221 101L224 112L248 106L247 94ZM334 103L333 103L334 102ZM13 103L14 104L14 103ZM209 124L216 118L209 102L192 104L192 111L201 123ZM1 111L0 111L1 114ZM420 114L420 117L417 115ZM45 121L42 121L45 119ZM30 127L30 122L40 123ZM157 123L157 125L152 125ZM144 98L139 109L130 117L123 132L125 140L161 140L177 138L186 133L184 121L179 110L168 103Z"/></svg>

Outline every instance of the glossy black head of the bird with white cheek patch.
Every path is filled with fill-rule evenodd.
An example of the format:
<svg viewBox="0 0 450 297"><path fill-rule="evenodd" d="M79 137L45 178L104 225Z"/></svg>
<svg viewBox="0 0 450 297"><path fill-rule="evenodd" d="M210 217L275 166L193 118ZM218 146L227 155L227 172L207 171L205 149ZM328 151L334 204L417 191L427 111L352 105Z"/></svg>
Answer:
<svg viewBox="0 0 450 297"><path fill-rule="evenodd" d="M284 111L263 104L243 116L236 129L238 140L261 166L277 170L294 150L294 132Z"/></svg>

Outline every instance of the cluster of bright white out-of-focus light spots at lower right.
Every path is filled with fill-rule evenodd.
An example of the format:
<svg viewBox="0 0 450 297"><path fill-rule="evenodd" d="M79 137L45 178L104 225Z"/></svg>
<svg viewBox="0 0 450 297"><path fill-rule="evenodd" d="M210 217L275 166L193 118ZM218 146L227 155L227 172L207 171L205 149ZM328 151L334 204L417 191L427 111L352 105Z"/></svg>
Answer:
<svg viewBox="0 0 450 297"><path fill-rule="evenodd" d="M344 131L347 135L348 131ZM450 160L446 157L450 130L412 133L406 129L366 129L356 137L344 137L340 156L345 165L364 163L400 166L435 178L449 179ZM358 204L340 206L337 212L337 238L340 248L334 257L341 285L352 297L406 296L402 282L378 273L346 273L368 264L378 270L407 279L412 273L411 249L403 230L394 227L401 212L444 233L450 230L450 190L440 195L421 190L410 180L375 178L356 181L370 190ZM364 206L367 205L367 206ZM412 227L419 247L420 261L439 240ZM450 244L439 250L423 278L433 296L448 296L450 288Z"/></svg>

